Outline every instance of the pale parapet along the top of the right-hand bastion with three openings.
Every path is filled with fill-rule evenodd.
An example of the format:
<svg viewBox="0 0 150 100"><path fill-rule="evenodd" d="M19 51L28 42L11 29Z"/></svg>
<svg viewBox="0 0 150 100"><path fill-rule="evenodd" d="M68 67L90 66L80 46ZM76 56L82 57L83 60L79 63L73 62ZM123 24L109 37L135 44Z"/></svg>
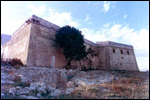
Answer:
<svg viewBox="0 0 150 100"><path fill-rule="evenodd" d="M104 42L97 42L96 45L98 47L118 47L118 48L125 48L125 49L133 49L132 45L127 45L127 44L121 44L121 43L116 43L112 41L104 41Z"/></svg>

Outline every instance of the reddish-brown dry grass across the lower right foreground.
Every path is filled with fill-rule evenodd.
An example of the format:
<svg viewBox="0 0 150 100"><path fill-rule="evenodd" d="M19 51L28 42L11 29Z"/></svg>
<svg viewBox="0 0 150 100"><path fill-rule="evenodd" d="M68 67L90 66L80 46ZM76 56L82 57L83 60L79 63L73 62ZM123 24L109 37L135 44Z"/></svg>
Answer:
<svg viewBox="0 0 150 100"><path fill-rule="evenodd" d="M69 95L55 99L148 99L149 82L143 84L140 78L130 77L110 83L78 87ZM49 97L52 98L52 97Z"/></svg>

